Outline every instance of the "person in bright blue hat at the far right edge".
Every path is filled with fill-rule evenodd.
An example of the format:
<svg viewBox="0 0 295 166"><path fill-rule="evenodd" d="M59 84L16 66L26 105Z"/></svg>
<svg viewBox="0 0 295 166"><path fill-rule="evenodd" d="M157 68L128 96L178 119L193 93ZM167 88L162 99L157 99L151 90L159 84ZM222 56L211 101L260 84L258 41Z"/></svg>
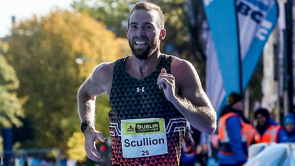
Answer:
<svg viewBox="0 0 295 166"><path fill-rule="evenodd" d="M295 115L288 113L284 118L284 129L288 135L288 142L295 142Z"/></svg>

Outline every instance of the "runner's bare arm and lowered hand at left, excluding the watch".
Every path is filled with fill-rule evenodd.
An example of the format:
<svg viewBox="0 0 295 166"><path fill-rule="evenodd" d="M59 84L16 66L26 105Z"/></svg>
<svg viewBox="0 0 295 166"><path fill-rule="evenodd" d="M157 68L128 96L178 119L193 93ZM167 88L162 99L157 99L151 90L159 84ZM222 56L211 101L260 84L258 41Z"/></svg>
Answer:
<svg viewBox="0 0 295 166"><path fill-rule="evenodd" d="M102 135L101 132L95 129L95 101L96 96L99 96L105 92L101 86L105 83L104 75L106 65L108 63L99 64L93 71L91 77L89 77L79 88L77 100L78 100L78 111L81 122L87 120L90 121L94 126L88 125L85 136L85 150L87 157L93 161L101 162L101 155L96 149L95 143L99 139L102 142L106 142L107 139Z"/></svg>

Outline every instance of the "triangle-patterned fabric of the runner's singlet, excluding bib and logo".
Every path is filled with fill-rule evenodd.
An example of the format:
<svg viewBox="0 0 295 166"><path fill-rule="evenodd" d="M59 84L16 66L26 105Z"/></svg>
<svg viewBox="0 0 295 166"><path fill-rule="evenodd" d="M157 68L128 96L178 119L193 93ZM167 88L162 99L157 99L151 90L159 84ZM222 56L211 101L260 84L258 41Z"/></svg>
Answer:
<svg viewBox="0 0 295 166"><path fill-rule="evenodd" d="M131 77L124 70L126 57L118 59L114 66L109 102L110 135L112 137L112 165L132 166L178 166L181 144L186 129L183 115L169 102L157 85L160 70L171 72L172 57L161 57L157 70L142 80ZM137 88L144 91L138 91ZM168 153L138 158L124 158L122 154L120 120L139 118L163 118L166 126ZM177 123L176 123L177 122ZM177 129L177 130L176 130Z"/></svg>

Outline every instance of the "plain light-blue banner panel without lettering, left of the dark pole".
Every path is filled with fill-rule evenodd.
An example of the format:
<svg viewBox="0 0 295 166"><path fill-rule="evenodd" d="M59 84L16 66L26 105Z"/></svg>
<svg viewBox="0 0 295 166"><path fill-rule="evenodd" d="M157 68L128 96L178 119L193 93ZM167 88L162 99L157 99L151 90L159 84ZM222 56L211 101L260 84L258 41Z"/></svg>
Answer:
<svg viewBox="0 0 295 166"><path fill-rule="evenodd" d="M235 1L204 0L226 94L240 91Z"/></svg>

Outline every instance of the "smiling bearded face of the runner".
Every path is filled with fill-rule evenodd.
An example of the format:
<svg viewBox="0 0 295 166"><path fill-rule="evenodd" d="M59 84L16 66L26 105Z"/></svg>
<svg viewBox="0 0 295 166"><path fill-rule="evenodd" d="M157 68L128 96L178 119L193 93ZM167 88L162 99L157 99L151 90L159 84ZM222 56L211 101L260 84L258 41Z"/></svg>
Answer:
<svg viewBox="0 0 295 166"><path fill-rule="evenodd" d="M138 59L150 57L160 46L160 30L155 10L134 10L130 15L127 38L132 53Z"/></svg>

